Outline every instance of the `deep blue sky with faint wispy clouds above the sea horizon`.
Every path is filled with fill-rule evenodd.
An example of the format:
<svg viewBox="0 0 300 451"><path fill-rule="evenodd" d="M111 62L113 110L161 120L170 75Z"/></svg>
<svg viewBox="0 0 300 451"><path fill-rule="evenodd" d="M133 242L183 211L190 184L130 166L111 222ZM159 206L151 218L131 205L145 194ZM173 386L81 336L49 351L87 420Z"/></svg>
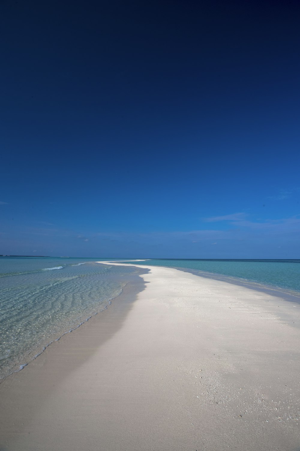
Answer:
<svg viewBox="0 0 300 451"><path fill-rule="evenodd" d="M0 17L0 253L300 258L298 0Z"/></svg>

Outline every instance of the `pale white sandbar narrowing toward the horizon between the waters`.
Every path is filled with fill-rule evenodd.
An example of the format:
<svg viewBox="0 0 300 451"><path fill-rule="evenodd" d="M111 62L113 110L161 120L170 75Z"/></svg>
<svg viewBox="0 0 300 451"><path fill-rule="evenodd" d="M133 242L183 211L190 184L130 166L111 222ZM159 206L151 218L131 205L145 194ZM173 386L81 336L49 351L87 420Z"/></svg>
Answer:
<svg viewBox="0 0 300 451"><path fill-rule="evenodd" d="M299 305L150 268L0 385L1 451L300 450Z"/></svg>

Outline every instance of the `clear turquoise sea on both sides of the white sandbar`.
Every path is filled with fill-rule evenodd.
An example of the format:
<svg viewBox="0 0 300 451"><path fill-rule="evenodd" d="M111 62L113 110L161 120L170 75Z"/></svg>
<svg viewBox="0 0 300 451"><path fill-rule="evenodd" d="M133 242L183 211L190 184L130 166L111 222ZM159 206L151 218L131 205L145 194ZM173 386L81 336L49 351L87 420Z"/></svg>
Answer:
<svg viewBox="0 0 300 451"><path fill-rule="evenodd" d="M130 266L131 259L124 266L96 263L100 260L121 259L0 257L0 379L107 308L140 273ZM300 302L300 260L147 259L134 264L175 267Z"/></svg>

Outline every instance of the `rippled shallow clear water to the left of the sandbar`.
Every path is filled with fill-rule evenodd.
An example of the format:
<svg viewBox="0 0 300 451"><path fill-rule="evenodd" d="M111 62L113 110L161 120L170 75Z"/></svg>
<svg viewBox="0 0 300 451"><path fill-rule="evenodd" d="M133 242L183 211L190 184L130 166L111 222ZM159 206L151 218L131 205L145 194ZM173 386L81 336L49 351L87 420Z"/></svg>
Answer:
<svg viewBox="0 0 300 451"><path fill-rule="evenodd" d="M0 258L0 380L107 308L139 273L100 260Z"/></svg>

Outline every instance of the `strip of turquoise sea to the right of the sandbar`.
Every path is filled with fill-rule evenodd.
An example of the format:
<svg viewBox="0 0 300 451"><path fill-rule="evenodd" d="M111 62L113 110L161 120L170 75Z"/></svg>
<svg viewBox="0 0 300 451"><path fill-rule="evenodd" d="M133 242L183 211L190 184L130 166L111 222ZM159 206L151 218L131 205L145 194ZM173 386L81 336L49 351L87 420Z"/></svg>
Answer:
<svg viewBox="0 0 300 451"><path fill-rule="evenodd" d="M130 264L130 262L127 262ZM300 260L196 260L147 259L134 264L184 269L199 276L215 277L232 283L255 282L253 287L278 288L278 293L300 296ZM275 290L276 291L276 290Z"/></svg>

